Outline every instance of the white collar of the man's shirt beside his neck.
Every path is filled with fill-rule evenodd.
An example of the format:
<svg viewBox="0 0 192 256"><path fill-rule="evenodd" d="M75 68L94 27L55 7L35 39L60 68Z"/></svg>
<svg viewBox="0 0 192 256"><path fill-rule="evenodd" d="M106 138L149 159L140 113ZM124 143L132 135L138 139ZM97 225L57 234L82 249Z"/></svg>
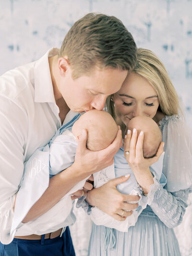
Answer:
<svg viewBox="0 0 192 256"><path fill-rule="evenodd" d="M49 69L48 57L57 55L58 48L49 49L46 54L35 63L34 80L35 80L35 102L55 102L53 85Z"/></svg>

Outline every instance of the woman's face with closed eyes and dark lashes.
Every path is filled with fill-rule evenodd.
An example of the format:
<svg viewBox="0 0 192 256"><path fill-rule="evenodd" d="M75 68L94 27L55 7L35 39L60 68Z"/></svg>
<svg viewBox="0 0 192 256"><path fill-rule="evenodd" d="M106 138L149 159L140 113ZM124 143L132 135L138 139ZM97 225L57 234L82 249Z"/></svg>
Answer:
<svg viewBox="0 0 192 256"><path fill-rule="evenodd" d="M141 75L130 73L120 90L111 97L115 113L127 126L135 116L154 118L159 106L155 89Z"/></svg>

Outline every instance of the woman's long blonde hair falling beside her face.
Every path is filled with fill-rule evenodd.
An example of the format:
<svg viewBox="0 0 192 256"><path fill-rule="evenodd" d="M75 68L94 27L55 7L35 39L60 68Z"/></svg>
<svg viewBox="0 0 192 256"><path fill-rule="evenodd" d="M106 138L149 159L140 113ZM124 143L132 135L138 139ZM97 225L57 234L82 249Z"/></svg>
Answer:
<svg viewBox="0 0 192 256"><path fill-rule="evenodd" d="M159 100L158 110L169 116L174 114L183 116L179 97L165 66L151 50L137 49L137 60L133 72L146 78L156 90ZM106 108L113 118L116 119L114 104L110 99L111 96L107 98Z"/></svg>

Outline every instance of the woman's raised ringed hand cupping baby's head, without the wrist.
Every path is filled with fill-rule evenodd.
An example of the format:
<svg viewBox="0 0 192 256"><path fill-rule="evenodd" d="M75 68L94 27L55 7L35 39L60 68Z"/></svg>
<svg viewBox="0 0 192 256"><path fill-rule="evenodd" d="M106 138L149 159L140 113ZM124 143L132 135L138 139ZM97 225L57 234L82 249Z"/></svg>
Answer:
<svg viewBox="0 0 192 256"><path fill-rule="evenodd" d="M144 132L140 132L137 136L137 130L128 130L127 135L124 139L124 156L129 163L132 171L144 171L149 168L150 165L154 164L163 153L164 142L158 147L156 156L153 158L144 158L143 155L143 142L144 142Z"/></svg>

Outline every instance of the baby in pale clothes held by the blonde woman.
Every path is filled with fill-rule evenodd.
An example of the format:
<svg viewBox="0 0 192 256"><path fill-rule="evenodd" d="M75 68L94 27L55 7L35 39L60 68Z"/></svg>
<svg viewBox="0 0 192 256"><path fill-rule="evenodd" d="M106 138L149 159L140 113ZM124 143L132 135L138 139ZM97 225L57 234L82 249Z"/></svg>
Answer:
<svg viewBox="0 0 192 256"><path fill-rule="evenodd" d="M162 141L161 131L156 122L153 119L145 116L135 117L132 118L128 125L129 130L133 130L133 128L137 129L138 135L140 134L141 131L144 131L144 158L154 157ZM164 175L161 177L163 167L163 156L159 158L158 163L159 162L161 162L161 164L153 164L150 167L150 171L152 172L152 174L156 176L156 179L164 186L166 184L166 178ZM108 180L110 179L117 178L125 174L130 174L130 178L127 182L120 183L119 185L117 185L118 191L126 195L144 196L142 195L142 191L138 190L134 174L124 157L123 148L120 148L120 150L116 153L114 157L114 164L115 173L114 171L109 170L110 167L108 167L102 171L98 171L93 174L94 187L100 187L106 182L108 182ZM161 168L159 168L159 166L161 166ZM143 206L143 208L145 207L146 205ZM103 225L109 228L115 228L121 232L127 232L130 226L135 225L143 208L141 206L137 207L135 210L133 210L132 215L127 217L124 221L118 221L116 219L113 219L111 216L109 216L106 213L103 213L97 207L92 207L90 215L91 219L96 225Z"/></svg>

